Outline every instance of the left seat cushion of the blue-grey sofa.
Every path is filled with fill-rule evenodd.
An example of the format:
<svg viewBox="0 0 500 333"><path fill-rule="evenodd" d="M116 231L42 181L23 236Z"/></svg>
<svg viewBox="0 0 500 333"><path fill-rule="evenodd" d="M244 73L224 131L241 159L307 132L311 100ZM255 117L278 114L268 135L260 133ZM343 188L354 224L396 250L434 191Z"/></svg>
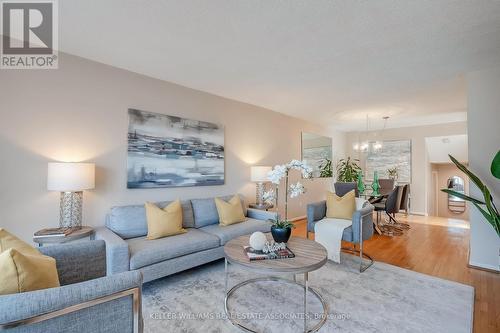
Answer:
<svg viewBox="0 0 500 333"><path fill-rule="evenodd" d="M218 247L219 238L206 232L187 228L175 236L149 240L145 237L127 239L130 269L138 269L186 254Z"/></svg>

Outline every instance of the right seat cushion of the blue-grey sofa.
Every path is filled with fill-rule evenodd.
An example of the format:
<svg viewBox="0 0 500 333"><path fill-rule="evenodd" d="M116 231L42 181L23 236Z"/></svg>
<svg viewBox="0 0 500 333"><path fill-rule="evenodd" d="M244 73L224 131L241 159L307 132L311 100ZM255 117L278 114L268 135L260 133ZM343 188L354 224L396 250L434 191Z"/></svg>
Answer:
<svg viewBox="0 0 500 333"><path fill-rule="evenodd" d="M217 236L220 239L220 245L224 245L233 238L251 234L255 231L270 232L271 223L249 218L245 222L231 224L228 226L212 224L200 228L200 230Z"/></svg>

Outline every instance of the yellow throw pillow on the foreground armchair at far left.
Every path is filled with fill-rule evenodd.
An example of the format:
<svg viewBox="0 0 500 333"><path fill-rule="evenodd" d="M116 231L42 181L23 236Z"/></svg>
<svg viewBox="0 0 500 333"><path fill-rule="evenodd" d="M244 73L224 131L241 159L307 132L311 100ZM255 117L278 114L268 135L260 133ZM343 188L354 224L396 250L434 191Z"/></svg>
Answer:
<svg viewBox="0 0 500 333"><path fill-rule="evenodd" d="M0 295L59 287L56 260L7 249L0 254Z"/></svg>

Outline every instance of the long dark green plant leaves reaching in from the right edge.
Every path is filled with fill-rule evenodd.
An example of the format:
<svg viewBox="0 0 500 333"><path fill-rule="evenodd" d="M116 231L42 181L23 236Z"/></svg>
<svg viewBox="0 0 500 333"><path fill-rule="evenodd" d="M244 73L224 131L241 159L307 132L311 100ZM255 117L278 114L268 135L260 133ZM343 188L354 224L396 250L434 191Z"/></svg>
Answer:
<svg viewBox="0 0 500 333"><path fill-rule="evenodd" d="M460 163L456 158L451 155L448 155L451 161L457 166L457 168L465 173L470 180L481 190L483 194L482 199L472 198L463 193L451 190L451 189L442 189L441 191L453 195L455 197L461 198L465 201L471 202L484 216L484 218L493 226L498 237L500 237L500 215L498 213L498 209L493 202L493 197L491 196L491 192L488 187L477 177L472 171L470 171L465 165ZM497 152L495 158L493 158L493 162L491 163L491 174L500 179L500 151Z"/></svg>

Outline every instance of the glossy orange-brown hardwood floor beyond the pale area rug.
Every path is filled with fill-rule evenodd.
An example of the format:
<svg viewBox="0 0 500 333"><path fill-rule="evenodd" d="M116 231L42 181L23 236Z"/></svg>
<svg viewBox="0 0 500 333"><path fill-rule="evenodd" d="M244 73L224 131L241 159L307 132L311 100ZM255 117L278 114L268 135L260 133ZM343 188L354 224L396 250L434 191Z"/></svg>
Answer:
<svg viewBox="0 0 500 333"><path fill-rule="evenodd" d="M375 235L365 251L376 261L473 286L474 332L500 332L500 274L468 267L468 222L404 214L398 220L411 229L402 236ZM305 237L306 221L295 225L293 235Z"/></svg>

